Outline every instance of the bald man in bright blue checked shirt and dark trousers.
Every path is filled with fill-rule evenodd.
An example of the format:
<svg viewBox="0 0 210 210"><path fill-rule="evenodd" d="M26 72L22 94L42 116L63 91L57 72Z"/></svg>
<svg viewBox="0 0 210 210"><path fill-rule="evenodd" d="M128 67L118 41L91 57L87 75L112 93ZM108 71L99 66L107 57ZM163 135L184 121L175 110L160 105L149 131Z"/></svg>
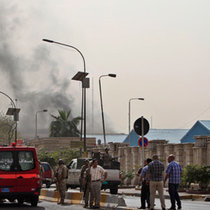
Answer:
<svg viewBox="0 0 210 210"><path fill-rule="evenodd" d="M166 175L164 179L164 185L166 183L166 180L168 180L168 189L169 189L169 195L170 195L170 200L171 200L171 208L170 210L175 210L176 209L176 204L178 209L181 209L181 201L179 198L179 194L177 192L179 184L181 182L181 174L182 174L182 169L179 163L175 161L175 156L173 154L168 156L168 166L166 168Z"/></svg>

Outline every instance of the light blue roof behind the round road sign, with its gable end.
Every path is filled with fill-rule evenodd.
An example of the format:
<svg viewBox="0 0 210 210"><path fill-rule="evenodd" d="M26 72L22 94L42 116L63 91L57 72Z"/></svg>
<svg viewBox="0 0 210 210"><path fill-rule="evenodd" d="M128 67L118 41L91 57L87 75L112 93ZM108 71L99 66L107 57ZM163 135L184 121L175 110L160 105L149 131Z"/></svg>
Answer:
<svg viewBox="0 0 210 210"><path fill-rule="evenodd" d="M187 133L188 129L150 129L145 137L151 140L167 140L169 143L180 143L180 139ZM130 132L130 145L138 146L139 135L134 130ZM129 142L129 136L123 141Z"/></svg>

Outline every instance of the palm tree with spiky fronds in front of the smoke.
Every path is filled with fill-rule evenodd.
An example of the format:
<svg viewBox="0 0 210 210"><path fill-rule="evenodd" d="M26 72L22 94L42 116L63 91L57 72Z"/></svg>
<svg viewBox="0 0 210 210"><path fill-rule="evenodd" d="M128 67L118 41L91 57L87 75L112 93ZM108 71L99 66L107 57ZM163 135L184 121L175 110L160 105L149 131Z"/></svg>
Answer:
<svg viewBox="0 0 210 210"><path fill-rule="evenodd" d="M50 123L50 137L78 137L80 132L77 128L81 117L71 117L71 110L58 110L59 115L54 116Z"/></svg>

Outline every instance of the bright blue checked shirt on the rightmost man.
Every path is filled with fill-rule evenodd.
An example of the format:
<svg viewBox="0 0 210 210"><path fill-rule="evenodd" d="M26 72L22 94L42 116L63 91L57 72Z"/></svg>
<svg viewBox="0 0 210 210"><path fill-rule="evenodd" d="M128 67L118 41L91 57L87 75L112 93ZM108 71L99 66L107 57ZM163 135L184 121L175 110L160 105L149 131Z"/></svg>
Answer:
<svg viewBox="0 0 210 210"><path fill-rule="evenodd" d="M182 168L179 163L171 161L167 168L166 173L168 174L168 183L180 184Z"/></svg>

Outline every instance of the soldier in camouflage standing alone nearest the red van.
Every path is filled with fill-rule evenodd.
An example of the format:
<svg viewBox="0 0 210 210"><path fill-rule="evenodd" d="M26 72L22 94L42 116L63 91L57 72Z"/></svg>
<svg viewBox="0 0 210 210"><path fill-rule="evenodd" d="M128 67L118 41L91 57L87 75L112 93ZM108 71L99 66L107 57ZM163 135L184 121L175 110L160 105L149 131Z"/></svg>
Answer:
<svg viewBox="0 0 210 210"><path fill-rule="evenodd" d="M63 160L61 159L58 161L58 169L55 176L57 179L57 187L60 195L60 201L58 202L58 204L64 204L68 170L67 167L64 165Z"/></svg>

